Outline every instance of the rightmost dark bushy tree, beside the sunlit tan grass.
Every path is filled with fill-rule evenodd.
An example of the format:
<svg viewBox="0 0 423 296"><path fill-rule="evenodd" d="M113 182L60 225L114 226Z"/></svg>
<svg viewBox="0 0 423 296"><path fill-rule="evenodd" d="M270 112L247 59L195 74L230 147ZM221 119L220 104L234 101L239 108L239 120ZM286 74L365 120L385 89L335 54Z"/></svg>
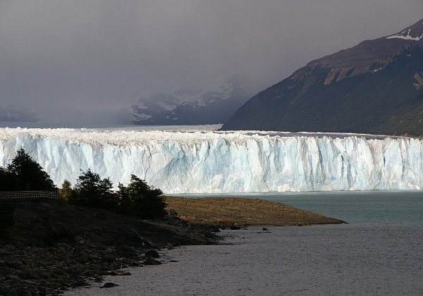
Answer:
<svg viewBox="0 0 423 296"><path fill-rule="evenodd" d="M125 214L150 219L166 215L166 204L161 196L163 192L149 187L136 175L130 176L127 187L119 184L118 194L121 197L121 209Z"/></svg>

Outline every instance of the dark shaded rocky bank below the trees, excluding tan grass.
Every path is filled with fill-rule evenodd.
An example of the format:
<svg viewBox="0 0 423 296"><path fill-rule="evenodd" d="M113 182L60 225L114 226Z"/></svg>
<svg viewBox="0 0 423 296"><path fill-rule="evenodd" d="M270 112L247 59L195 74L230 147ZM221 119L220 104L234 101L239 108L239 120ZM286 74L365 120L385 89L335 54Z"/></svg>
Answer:
<svg viewBox="0 0 423 296"><path fill-rule="evenodd" d="M58 295L127 275L127 266L161 264L156 249L214 244L207 225L150 222L60 202L20 204L16 226L0 240L0 295ZM108 287L110 284L105 283Z"/></svg>

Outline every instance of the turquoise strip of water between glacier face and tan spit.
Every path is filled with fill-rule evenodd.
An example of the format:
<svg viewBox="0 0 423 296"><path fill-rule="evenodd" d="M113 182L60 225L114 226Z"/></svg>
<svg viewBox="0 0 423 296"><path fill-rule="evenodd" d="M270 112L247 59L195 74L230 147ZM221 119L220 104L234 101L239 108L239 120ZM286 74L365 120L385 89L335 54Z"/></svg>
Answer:
<svg viewBox="0 0 423 296"><path fill-rule="evenodd" d="M423 226L423 191L278 192L219 196L282 202L324 216L338 218L353 225Z"/></svg>

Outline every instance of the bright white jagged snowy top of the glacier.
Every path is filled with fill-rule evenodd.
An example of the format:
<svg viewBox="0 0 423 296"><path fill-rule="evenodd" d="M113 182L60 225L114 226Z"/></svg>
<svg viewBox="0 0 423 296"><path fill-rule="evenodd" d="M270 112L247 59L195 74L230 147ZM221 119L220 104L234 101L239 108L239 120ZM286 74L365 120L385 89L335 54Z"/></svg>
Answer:
<svg viewBox="0 0 423 296"><path fill-rule="evenodd" d="M209 127L210 129L217 126ZM204 126L203 126L204 128ZM367 139L383 140L388 136L367 135L354 133L328 133L328 132L269 132L259 130L196 130L186 128L183 130L139 130L139 129L72 129L72 128L0 128L0 140L10 140L18 135L30 135L32 137L59 137L68 142L85 142L90 144L111 144L117 146L133 146L147 142L178 142L179 144L192 144L195 142L214 142L226 140L233 144L244 144L248 140L263 138L283 137L364 137ZM391 137L391 136L389 136Z"/></svg>

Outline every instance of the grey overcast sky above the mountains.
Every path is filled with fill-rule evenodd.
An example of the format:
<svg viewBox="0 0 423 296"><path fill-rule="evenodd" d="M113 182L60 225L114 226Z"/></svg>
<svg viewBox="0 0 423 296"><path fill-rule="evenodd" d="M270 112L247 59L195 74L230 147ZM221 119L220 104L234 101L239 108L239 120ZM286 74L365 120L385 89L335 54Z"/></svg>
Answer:
<svg viewBox="0 0 423 296"><path fill-rule="evenodd" d="M234 74L267 87L421 18L422 0L0 0L0 106L118 108Z"/></svg>

